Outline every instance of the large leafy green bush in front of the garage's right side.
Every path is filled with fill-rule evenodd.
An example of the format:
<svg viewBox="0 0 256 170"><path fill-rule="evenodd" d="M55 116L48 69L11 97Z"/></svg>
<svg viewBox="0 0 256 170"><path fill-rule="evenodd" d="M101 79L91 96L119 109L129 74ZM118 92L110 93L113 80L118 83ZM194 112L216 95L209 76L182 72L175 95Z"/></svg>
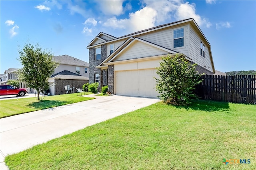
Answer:
<svg viewBox="0 0 256 170"><path fill-rule="evenodd" d="M184 56L162 58L160 67L156 68L159 78L156 79L158 96L164 102L175 105L190 104L190 99L196 97L193 94L196 84L199 84L200 76L196 64L190 64Z"/></svg>

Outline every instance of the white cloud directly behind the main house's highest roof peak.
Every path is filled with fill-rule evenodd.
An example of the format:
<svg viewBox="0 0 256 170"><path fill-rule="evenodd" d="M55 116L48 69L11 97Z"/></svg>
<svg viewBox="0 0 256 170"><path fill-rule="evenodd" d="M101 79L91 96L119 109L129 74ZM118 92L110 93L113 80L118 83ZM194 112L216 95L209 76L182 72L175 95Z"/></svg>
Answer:
<svg viewBox="0 0 256 170"><path fill-rule="evenodd" d="M210 23L206 18L201 18L200 15L196 14L195 4L189 4L189 2L186 2L185 4L180 4L175 13L175 17L178 20L194 18L199 26L205 25L207 28L212 26L212 23Z"/></svg>

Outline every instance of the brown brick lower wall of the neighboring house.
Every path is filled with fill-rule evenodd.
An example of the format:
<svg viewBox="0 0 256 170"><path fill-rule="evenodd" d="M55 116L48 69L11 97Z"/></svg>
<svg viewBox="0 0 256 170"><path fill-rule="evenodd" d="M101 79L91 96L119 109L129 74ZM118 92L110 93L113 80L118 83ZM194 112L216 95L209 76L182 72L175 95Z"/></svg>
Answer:
<svg viewBox="0 0 256 170"><path fill-rule="evenodd" d="M83 88L83 85L88 83L89 80L70 80L70 79L55 79L55 94L67 94L67 90L65 90L65 86L70 86L70 88L73 89L72 93L76 93L76 88ZM71 91L68 90L68 94L70 94ZM52 92L50 92L52 94Z"/></svg>

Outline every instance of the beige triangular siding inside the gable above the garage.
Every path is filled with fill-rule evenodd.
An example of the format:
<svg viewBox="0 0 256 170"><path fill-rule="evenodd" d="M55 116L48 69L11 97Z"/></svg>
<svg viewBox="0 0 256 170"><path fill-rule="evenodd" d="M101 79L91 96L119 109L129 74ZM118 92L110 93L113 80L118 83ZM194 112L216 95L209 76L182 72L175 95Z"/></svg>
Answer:
<svg viewBox="0 0 256 170"><path fill-rule="evenodd" d="M136 41L131 45L131 47L128 47L127 51L121 53L120 57L118 57L114 61L137 59L142 57L150 57L164 54L168 54L168 52L153 47L151 45L142 43L140 41Z"/></svg>

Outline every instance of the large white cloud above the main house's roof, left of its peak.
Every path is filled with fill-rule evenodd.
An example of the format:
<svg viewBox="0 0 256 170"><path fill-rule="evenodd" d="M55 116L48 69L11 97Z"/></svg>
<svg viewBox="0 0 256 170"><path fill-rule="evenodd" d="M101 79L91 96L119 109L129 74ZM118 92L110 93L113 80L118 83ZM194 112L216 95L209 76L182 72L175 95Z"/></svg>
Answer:
<svg viewBox="0 0 256 170"><path fill-rule="evenodd" d="M129 19L120 19L112 17L103 23L105 27L112 27L114 29L128 29L130 31L139 31L154 27L156 21L156 10L145 7L135 13L129 14Z"/></svg>

